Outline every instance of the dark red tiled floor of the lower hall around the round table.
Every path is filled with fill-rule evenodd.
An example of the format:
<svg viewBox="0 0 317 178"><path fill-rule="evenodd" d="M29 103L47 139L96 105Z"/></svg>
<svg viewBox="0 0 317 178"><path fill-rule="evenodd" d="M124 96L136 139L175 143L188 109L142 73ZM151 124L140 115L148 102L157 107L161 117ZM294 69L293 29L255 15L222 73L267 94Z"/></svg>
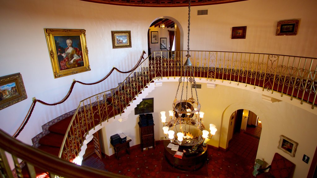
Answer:
<svg viewBox="0 0 317 178"><path fill-rule="evenodd" d="M119 160L114 156L100 159L92 154L85 158L82 165L129 177L254 178L252 171L261 130L262 125L259 124L257 128L247 127L246 131L234 134L227 151L208 148L209 162L206 168L198 170L206 171L208 176L197 175L195 172L164 172L161 169L162 160L165 159L164 145L161 142L157 143L155 149L143 152L139 147L131 149L130 155L121 156Z"/></svg>

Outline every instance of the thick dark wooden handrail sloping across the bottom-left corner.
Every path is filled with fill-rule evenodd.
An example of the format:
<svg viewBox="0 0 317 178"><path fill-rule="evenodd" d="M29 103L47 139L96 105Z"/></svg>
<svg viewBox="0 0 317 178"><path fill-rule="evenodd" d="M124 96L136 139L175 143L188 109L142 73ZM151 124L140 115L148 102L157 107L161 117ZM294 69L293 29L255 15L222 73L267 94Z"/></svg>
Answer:
<svg viewBox="0 0 317 178"><path fill-rule="evenodd" d="M105 172L87 166L79 166L64 159L60 159L56 156L52 156L50 154L47 154L46 152L22 143L21 141L11 137L1 129L0 143L1 152L3 152L2 150L4 150L11 155L22 159L27 164L31 164L37 168L41 168L42 170L49 172L50 176L58 175L59 177L65 178L126 178L126 176L123 175ZM8 171L10 170L10 168L8 168L8 162L5 161L5 154L1 154L0 158L2 158L0 159L0 163L3 163L3 165L5 165L5 168L2 168L1 164L1 170L5 171L5 174L12 177L12 172ZM2 162L3 160L5 162Z"/></svg>

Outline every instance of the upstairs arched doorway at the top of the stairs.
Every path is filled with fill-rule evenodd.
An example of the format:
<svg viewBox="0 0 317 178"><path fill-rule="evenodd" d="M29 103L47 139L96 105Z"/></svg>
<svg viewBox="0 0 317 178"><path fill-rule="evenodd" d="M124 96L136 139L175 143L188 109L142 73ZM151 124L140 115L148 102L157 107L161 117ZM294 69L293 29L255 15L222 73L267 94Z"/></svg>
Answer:
<svg viewBox="0 0 317 178"><path fill-rule="evenodd" d="M183 50L183 34L183 28L176 19L168 16L155 19L147 34L148 54L153 51Z"/></svg>

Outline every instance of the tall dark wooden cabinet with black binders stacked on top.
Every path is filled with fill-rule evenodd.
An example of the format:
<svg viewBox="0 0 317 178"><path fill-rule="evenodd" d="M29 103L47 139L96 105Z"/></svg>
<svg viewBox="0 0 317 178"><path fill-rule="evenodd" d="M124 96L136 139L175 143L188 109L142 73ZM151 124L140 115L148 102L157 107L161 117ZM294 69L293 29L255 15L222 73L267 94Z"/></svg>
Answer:
<svg viewBox="0 0 317 178"><path fill-rule="evenodd" d="M141 126L139 124L141 151L147 147L155 147L154 140L154 124L149 126Z"/></svg>

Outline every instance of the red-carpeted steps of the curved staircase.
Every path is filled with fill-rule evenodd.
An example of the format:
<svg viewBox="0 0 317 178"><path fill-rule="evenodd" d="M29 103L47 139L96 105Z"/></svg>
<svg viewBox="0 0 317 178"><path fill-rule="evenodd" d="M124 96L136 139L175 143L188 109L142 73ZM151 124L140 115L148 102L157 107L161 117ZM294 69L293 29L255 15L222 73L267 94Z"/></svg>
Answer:
<svg viewBox="0 0 317 178"><path fill-rule="evenodd" d="M141 91L144 88L148 87L147 85L149 83L154 82L152 80L152 77L151 79L149 77L146 77L145 80L144 78L145 77L142 73L134 72L133 77L128 77L125 82L119 83L119 86L117 88L111 90L111 95L107 96L107 99L104 101L104 103L99 104L99 105L107 105L106 108L108 108L108 110L111 111L108 113L106 119L112 118L116 115L124 113L124 110L126 109L126 107L130 106L130 102L132 100L135 100L136 97L142 93ZM133 90L133 92L131 92L131 87L130 87L131 85L135 86L134 87L135 90ZM130 93L130 94L122 95L122 93ZM117 96L120 96L120 99L117 98ZM119 103L120 105L118 105ZM94 108L97 109L97 107L98 105L95 105L93 106L93 109ZM49 126L48 128L49 133L38 140L38 143L39 143L38 149L46 153L49 153L53 156L59 156L59 152L63 143L64 136L66 135L68 126L71 124L73 116L74 115L68 116L67 118L64 118L63 120ZM99 115L92 114L92 117L98 118ZM90 130L94 127L94 125L88 125L88 127L89 128L87 128L87 130ZM85 133L82 133L82 134L85 134ZM25 167L23 168L23 174L24 174L23 177L29 177ZM49 175L45 171L38 168L36 168L36 174L38 176L41 175L41 177L49 177Z"/></svg>

